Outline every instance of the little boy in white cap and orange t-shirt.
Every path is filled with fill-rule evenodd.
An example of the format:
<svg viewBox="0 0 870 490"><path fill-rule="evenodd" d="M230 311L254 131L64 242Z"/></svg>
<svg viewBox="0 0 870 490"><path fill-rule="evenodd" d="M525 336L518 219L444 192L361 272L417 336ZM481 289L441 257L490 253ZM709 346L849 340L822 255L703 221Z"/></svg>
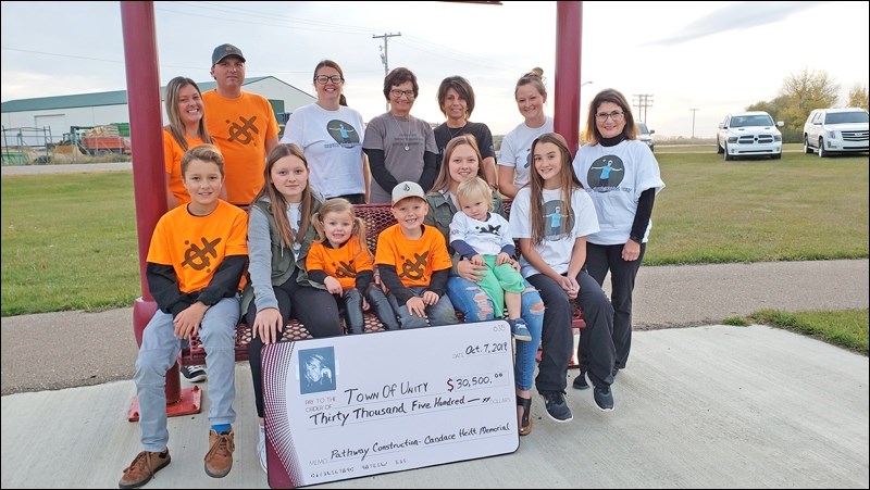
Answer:
<svg viewBox="0 0 870 490"><path fill-rule="evenodd" d="M399 183L393 189L398 223L377 237L374 263L401 328L459 323L446 294L453 264L444 235L423 224L428 213L425 196L419 184Z"/></svg>

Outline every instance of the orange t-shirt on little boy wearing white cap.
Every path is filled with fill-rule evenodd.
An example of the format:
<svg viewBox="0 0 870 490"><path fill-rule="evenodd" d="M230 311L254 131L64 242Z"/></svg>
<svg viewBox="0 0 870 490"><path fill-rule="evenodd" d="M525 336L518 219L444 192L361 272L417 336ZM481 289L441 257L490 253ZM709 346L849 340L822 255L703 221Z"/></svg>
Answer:
<svg viewBox="0 0 870 490"><path fill-rule="evenodd" d="M432 226L424 226L423 236L417 240L402 235L399 225L381 231L374 263L395 266L401 284L408 288L428 286L434 271L453 266L444 235Z"/></svg>

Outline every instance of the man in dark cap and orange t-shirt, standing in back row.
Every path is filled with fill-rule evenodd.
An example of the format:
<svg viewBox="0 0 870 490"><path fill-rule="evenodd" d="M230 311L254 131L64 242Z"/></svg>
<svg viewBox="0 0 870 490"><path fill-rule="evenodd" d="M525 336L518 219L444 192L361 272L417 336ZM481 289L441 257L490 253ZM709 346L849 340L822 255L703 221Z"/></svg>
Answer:
<svg viewBox="0 0 870 490"><path fill-rule="evenodd" d="M227 201L247 206L263 187L266 155L278 143L278 123L265 97L241 89L245 55L240 49L214 48L211 76L217 87L202 93L206 126L224 155Z"/></svg>

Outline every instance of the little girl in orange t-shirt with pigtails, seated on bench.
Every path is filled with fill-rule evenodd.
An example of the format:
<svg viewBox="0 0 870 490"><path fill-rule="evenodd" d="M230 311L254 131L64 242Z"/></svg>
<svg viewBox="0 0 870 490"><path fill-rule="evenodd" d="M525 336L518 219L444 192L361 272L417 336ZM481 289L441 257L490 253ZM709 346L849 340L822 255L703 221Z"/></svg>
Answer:
<svg viewBox="0 0 870 490"><path fill-rule="evenodd" d="M372 255L365 246L365 224L356 217L347 199L330 199L314 214L318 239L306 259L308 278L326 286L344 305L348 334L365 331L362 315L365 303L371 305L384 328L398 330L399 323L386 294L374 282Z"/></svg>

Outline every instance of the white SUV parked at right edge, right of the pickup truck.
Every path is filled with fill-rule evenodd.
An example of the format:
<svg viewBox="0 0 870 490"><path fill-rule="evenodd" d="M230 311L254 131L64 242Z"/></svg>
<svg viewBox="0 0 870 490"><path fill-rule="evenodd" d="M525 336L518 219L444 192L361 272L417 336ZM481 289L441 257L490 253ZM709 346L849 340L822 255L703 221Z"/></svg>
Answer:
<svg viewBox="0 0 870 490"><path fill-rule="evenodd" d="M863 109L817 109L804 124L804 152L818 151L824 158L837 152L868 151L868 135L870 125Z"/></svg>

